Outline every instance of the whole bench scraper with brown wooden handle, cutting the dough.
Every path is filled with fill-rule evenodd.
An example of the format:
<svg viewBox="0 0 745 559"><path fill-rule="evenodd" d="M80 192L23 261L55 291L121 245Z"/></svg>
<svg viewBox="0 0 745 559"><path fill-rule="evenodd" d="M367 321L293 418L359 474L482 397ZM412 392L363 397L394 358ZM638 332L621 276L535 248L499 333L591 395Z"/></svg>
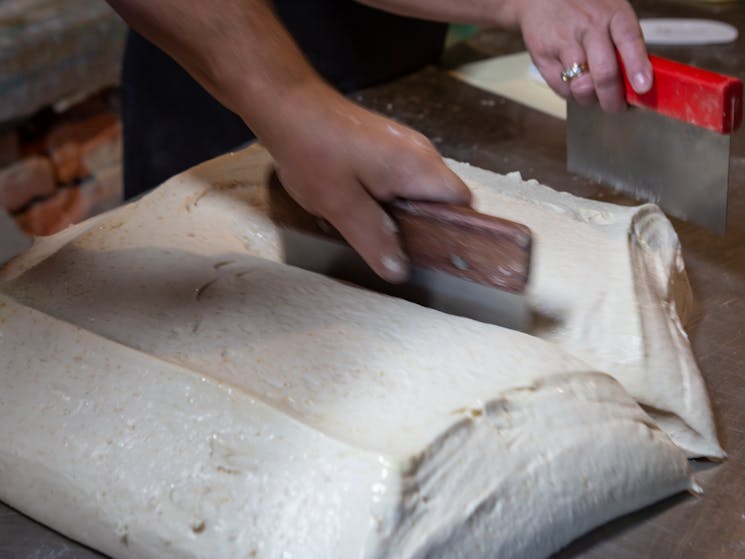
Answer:
<svg viewBox="0 0 745 559"><path fill-rule="evenodd" d="M386 205L411 261L391 284L375 274L327 222L306 212L275 178L270 215L287 264L400 297L449 314L527 331L532 237L522 224L465 206L395 200Z"/></svg>

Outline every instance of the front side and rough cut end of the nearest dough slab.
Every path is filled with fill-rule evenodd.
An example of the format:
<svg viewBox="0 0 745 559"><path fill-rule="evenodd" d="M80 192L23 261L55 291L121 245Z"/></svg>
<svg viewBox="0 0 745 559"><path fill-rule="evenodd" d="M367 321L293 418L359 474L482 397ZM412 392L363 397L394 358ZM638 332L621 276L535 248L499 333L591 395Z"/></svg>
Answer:
<svg viewBox="0 0 745 559"><path fill-rule="evenodd" d="M0 338L0 497L112 557L544 556L694 487L603 374L454 410L386 456L5 297L0 311L17 319ZM23 344L37 350L14 366Z"/></svg>

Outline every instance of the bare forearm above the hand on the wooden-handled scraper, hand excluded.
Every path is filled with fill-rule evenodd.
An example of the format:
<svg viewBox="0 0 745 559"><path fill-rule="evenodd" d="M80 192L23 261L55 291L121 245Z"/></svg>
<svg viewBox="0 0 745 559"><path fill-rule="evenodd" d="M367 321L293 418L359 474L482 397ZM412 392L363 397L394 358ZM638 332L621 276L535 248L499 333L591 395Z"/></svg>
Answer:
<svg viewBox="0 0 745 559"><path fill-rule="evenodd" d="M303 95L331 91L268 0L108 0L261 138Z"/></svg>

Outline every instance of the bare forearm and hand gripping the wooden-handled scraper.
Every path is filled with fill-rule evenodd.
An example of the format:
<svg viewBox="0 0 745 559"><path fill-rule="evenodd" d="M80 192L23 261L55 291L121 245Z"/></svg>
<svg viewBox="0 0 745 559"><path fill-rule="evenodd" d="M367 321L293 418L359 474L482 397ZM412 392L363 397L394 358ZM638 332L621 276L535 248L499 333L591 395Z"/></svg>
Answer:
<svg viewBox="0 0 745 559"><path fill-rule="evenodd" d="M424 136L326 84L269 0L109 3L243 118L272 154L285 189L334 225L381 277L400 281L408 268L379 200L470 200Z"/></svg>

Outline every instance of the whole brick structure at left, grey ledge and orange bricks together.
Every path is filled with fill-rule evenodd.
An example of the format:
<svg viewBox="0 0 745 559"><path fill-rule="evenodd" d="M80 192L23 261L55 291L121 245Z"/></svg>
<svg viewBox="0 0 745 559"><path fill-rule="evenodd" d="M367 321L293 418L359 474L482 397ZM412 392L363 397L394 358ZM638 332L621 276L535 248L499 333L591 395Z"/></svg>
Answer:
<svg viewBox="0 0 745 559"><path fill-rule="evenodd" d="M125 34L100 0L0 0L0 211L30 234L121 200Z"/></svg>

